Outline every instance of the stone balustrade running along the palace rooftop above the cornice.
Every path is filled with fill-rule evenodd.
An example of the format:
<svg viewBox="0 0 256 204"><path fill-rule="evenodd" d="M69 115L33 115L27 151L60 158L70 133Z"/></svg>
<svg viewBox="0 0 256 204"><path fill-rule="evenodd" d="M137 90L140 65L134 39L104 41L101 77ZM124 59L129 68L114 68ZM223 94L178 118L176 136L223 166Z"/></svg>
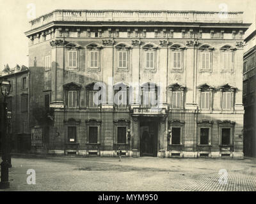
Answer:
<svg viewBox="0 0 256 204"><path fill-rule="evenodd" d="M54 10L31 20L31 29L54 21L242 23L242 11Z"/></svg>

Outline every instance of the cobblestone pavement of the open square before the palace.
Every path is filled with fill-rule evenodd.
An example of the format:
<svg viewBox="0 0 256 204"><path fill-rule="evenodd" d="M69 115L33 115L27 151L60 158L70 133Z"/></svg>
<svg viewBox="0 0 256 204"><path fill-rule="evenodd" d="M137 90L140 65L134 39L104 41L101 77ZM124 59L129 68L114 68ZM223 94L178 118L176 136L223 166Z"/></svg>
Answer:
<svg viewBox="0 0 256 204"><path fill-rule="evenodd" d="M12 165L8 191L256 191L252 158L19 157ZM26 182L28 169L35 185Z"/></svg>

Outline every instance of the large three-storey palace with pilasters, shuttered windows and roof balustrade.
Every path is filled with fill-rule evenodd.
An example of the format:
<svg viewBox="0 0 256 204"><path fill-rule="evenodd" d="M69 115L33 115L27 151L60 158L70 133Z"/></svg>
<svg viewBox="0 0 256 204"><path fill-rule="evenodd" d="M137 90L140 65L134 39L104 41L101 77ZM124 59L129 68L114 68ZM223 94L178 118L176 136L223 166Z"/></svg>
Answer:
<svg viewBox="0 0 256 204"><path fill-rule="evenodd" d="M55 10L32 20L31 151L243 158L242 15Z"/></svg>

